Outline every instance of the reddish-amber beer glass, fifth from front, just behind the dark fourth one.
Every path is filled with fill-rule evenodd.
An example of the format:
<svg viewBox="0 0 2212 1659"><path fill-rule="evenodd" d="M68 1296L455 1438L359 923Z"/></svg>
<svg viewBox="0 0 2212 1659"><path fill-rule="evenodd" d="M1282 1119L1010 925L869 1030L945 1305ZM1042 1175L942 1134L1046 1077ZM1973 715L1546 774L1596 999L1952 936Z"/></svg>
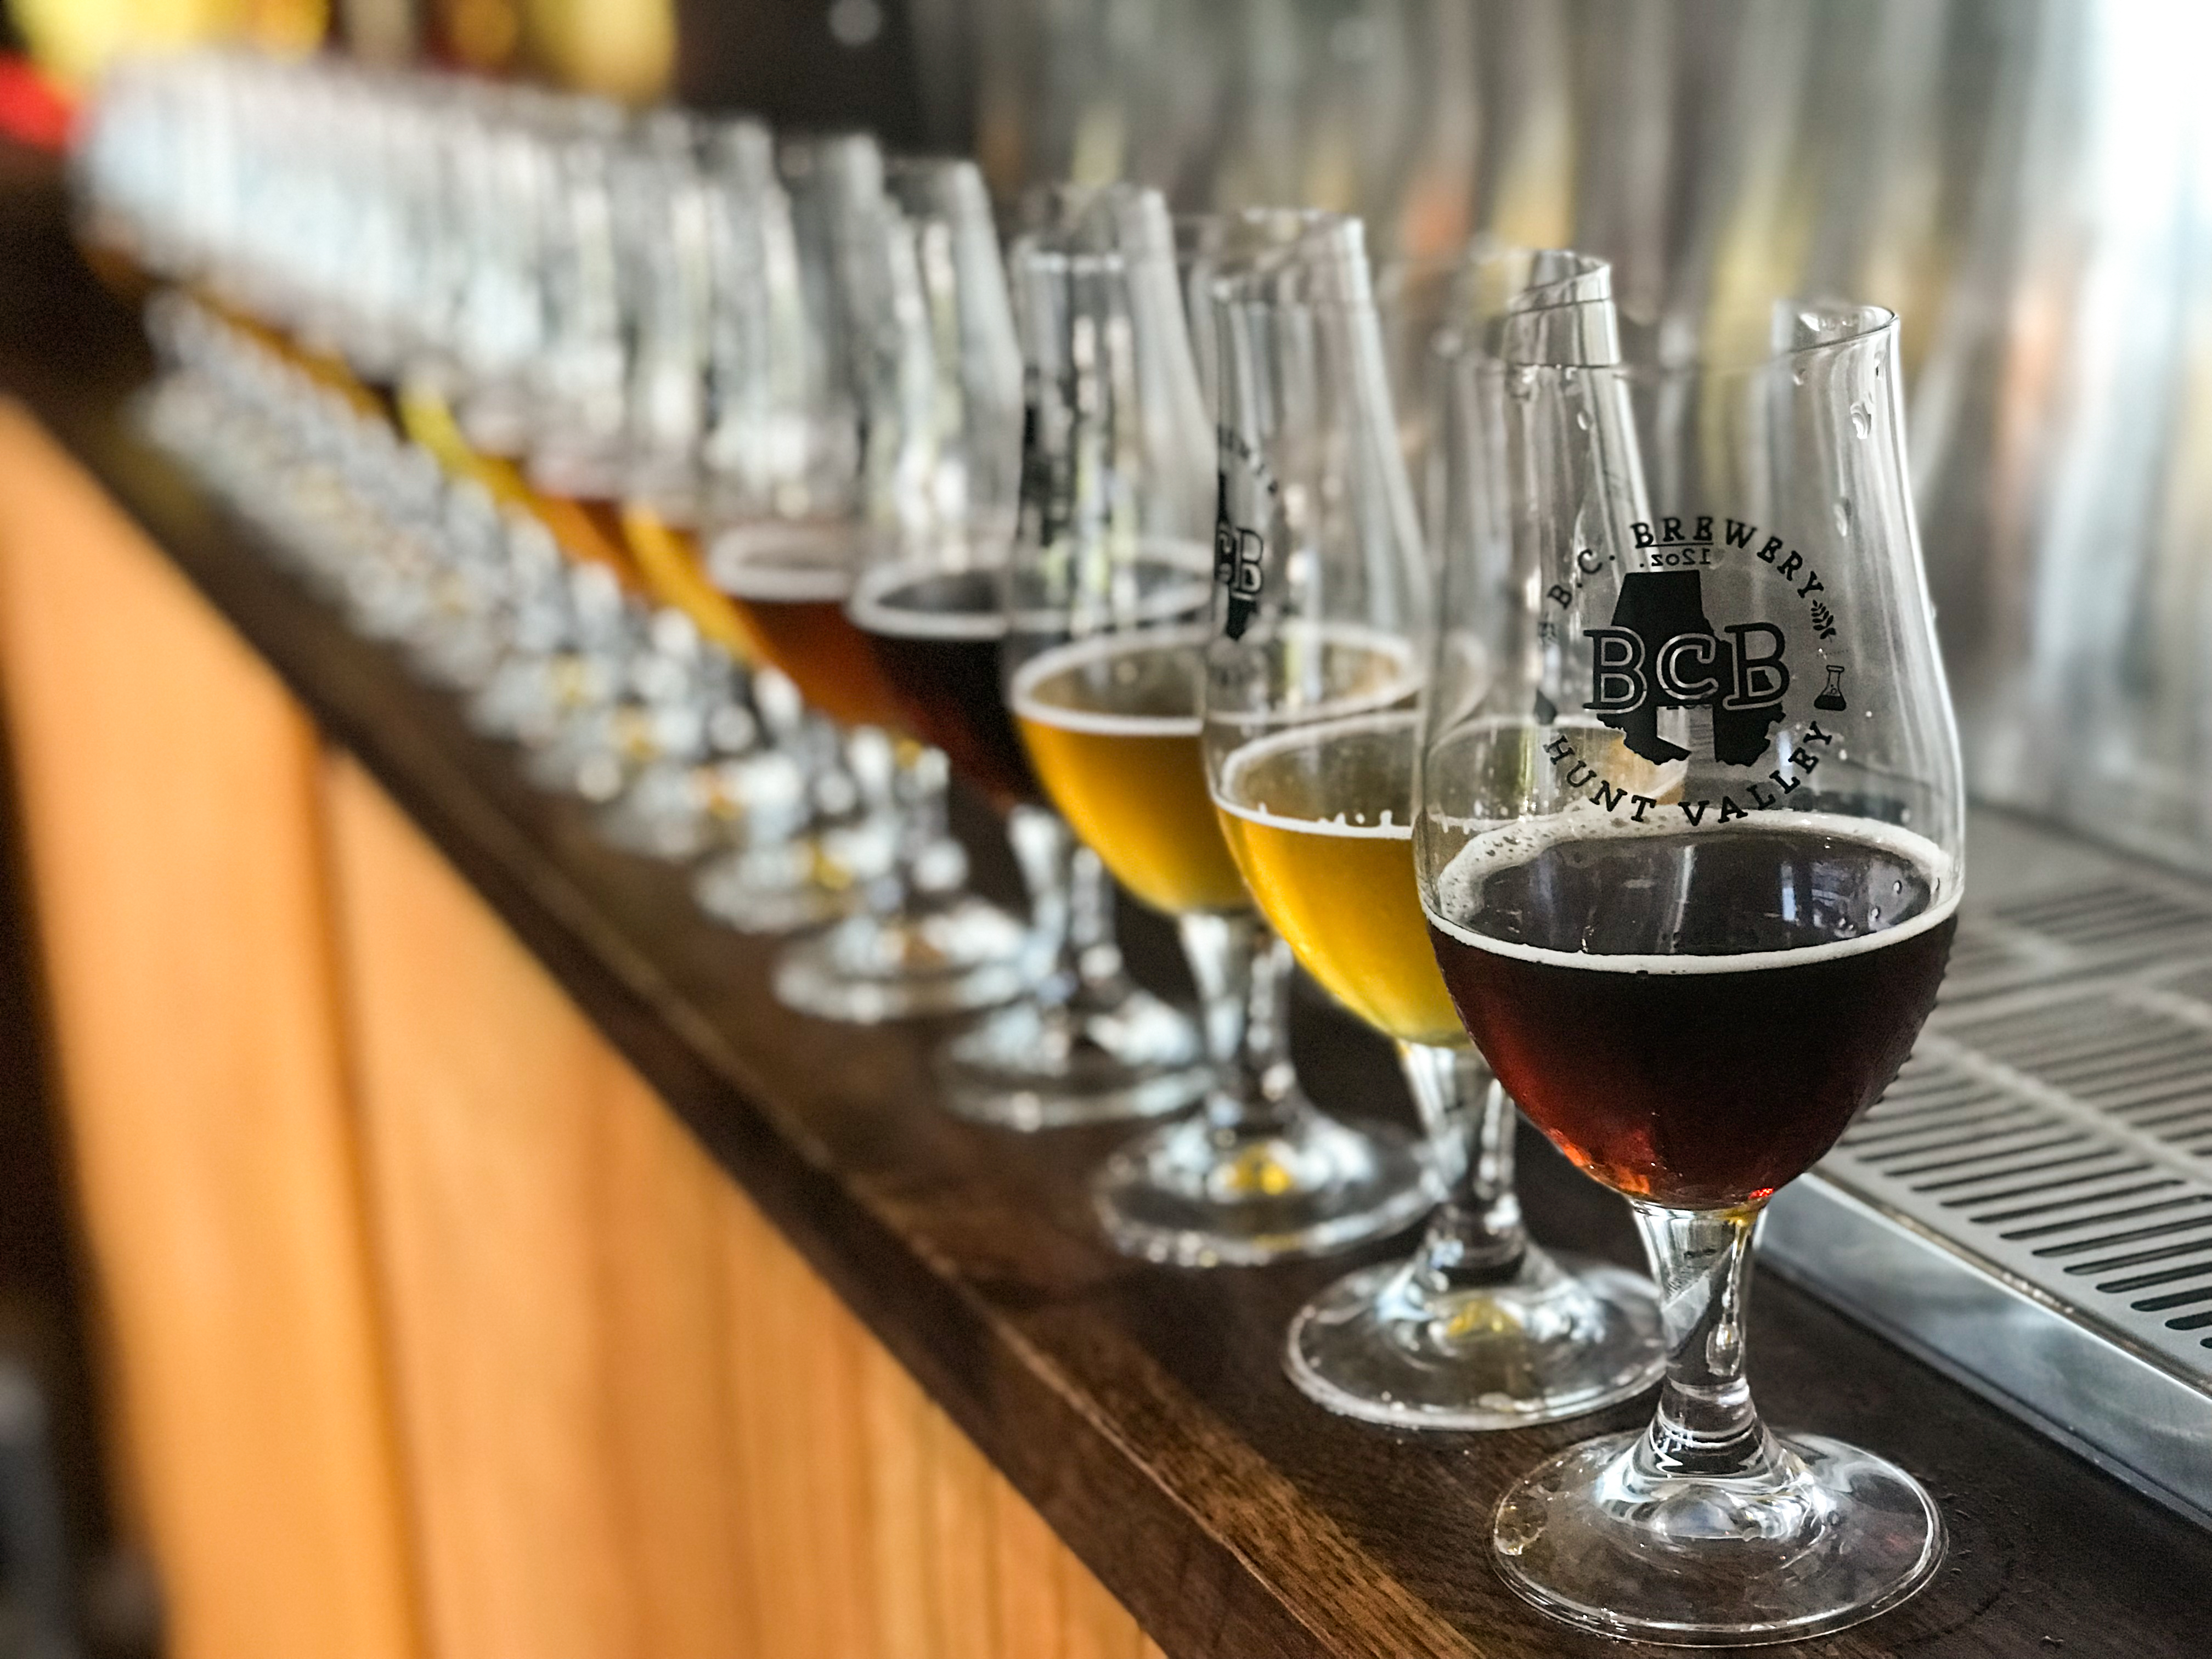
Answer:
<svg viewBox="0 0 2212 1659"><path fill-rule="evenodd" d="M785 142L787 243L745 250L726 274L726 349L752 349L770 376L748 420L759 445L726 440L728 471L706 484L706 573L807 699L847 730L865 796L883 810L880 856L858 869L858 907L796 940L776 995L834 1020L898 1020L987 1009L1018 995L1031 938L967 891L967 858L945 830L942 752L916 745L849 604L872 551L909 526L964 522L940 493L940 383L925 330L911 232L885 190L867 135ZM790 259L779 261L783 252ZM794 327L776 338L774 310ZM765 312L765 314L763 314ZM951 369L958 374L958 363ZM956 380L958 385L958 380ZM949 445L958 456L964 445ZM743 920L739 860L701 876L701 898Z"/></svg>

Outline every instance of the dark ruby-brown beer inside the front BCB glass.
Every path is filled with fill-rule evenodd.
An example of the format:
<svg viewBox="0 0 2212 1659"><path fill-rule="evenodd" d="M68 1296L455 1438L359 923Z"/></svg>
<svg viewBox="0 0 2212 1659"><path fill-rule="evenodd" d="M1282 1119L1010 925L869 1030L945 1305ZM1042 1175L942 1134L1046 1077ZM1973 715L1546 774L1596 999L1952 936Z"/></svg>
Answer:
<svg viewBox="0 0 2212 1659"><path fill-rule="evenodd" d="M1944 863L1825 814L1533 854L1478 841L1438 883L1436 958L1575 1164L1655 1203L1756 1203L1911 1053L1958 925L1955 896L1936 898Z"/></svg>

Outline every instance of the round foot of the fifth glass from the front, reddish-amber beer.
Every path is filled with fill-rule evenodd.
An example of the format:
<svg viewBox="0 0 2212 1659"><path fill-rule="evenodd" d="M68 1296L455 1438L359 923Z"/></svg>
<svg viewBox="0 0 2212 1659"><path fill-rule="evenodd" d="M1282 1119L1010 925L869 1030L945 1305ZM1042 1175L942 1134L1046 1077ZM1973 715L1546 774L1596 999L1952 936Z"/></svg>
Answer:
<svg viewBox="0 0 2212 1659"><path fill-rule="evenodd" d="M847 1024L927 1020L1011 1002L1035 975L1029 929L973 894L894 916L847 916L776 962L776 1000Z"/></svg>

